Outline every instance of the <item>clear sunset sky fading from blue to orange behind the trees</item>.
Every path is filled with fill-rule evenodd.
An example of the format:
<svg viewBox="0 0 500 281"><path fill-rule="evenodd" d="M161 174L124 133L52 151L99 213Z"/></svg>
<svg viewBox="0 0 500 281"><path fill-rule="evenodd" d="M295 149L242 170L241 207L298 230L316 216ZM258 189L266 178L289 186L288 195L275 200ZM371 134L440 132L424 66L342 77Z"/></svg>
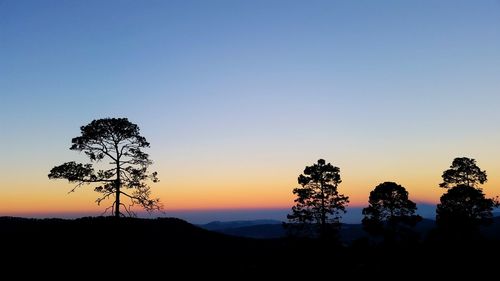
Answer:
<svg viewBox="0 0 500 281"><path fill-rule="evenodd" d="M0 215L100 213L47 178L79 128L127 117L165 213L291 208L338 166L352 207L436 203L471 157L500 195L500 1L0 0Z"/></svg>

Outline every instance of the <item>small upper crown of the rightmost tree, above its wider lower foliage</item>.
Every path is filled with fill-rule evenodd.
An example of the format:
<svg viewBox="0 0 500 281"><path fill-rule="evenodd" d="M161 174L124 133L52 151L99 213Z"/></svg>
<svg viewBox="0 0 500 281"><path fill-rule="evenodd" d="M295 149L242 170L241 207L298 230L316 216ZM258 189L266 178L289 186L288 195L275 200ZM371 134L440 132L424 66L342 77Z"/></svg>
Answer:
<svg viewBox="0 0 500 281"><path fill-rule="evenodd" d="M476 160L467 157L455 158L450 169L443 172L440 187L450 188L458 185L477 187L487 181L486 171L476 165Z"/></svg>

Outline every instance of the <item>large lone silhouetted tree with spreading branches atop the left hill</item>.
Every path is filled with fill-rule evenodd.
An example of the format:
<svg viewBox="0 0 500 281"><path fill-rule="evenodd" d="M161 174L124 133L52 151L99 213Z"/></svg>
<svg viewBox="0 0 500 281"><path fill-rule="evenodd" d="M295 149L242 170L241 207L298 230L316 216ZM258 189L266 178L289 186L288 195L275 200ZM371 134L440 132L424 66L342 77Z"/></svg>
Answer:
<svg viewBox="0 0 500 281"><path fill-rule="evenodd" d="M98 184L94 188L101 193L97 204L114 196L113 204L105 212L111 209L115 217L123 215L120 206L129 215L134 214L131 207L135 204L148 212L161 209L159 199L150 198L151 191L146 181L158 182L158 178L156 172L148 173L152 161L142 149L149 147L149 143L139 134L136 124L127 118L105 118L94 120L80 129L81 136L73 138L70 149L83 151L91 163L101 166L104 166L102 160L107 159L111 168L96 169L93 164L67 162L52 168L48 175L50 179L77 183L70 192L84 184ZM128 207L120 199L121 195L130 199Z"/></svg>

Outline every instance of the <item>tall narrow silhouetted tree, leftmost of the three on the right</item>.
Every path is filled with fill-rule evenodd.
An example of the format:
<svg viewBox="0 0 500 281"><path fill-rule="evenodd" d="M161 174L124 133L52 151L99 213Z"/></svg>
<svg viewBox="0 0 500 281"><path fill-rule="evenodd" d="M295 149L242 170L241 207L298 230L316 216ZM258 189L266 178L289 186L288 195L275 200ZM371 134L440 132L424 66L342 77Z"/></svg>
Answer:
<svg viewBox="0 0 500 281"><path fill-rule="evenodd" d="M297 195L296 205L287 216L290 225L314 229L322 238L334 234L340 228L340 219L349 203L349 197L337 191L342 182L340 169L319 159L318 163L306 166L298 182L301 187L293 190Z"/></svg>

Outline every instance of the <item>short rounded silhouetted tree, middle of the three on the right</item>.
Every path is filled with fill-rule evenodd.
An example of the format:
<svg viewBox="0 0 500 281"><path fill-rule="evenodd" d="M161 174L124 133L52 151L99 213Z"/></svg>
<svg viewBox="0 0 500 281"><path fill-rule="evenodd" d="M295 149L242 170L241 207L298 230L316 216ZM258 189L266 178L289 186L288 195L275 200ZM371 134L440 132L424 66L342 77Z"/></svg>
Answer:
<svg viewBox="0 0 500 281"><path fill-rule="evenodd" d="M410 228L422 220L415 215L417 205L408 199L408 191L394 182L377 185L368 203L363 209L363 228L374 236L383 235L386 242L409 238Z"/></svg>

